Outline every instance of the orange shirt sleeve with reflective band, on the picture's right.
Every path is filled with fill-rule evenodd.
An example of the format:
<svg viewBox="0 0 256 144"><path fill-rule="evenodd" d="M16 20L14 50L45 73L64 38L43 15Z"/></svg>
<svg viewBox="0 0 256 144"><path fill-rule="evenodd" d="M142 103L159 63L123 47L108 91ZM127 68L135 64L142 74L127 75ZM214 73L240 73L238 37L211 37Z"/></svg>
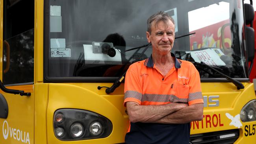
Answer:
<svg viewBox="0 0 256 144"><path fill-rule="evenodd" d="M193 105L195 103L204 103L202 97L200 75L197 70L193 74L191 74L189 78L188 104Z"/></svg>

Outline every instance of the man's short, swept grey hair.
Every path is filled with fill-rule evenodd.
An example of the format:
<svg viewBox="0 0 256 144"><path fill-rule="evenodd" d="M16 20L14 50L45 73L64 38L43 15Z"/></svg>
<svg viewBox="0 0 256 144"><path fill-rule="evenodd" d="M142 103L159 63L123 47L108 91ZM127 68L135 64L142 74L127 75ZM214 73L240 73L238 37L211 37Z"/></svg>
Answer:
<svg viewBox="0 0 256 144"><path fill-rule="evenodd" d="M175 25L173 18L168 13L165 13L163 11L155 13L154 15L148 18L148 21L147 21L148 32L151 34L151 26L153 22L155 22L155 26L156 26L158 22L163 21L166 24L168 20L171 20L171 22L173 22L173 24Z"/></svg>

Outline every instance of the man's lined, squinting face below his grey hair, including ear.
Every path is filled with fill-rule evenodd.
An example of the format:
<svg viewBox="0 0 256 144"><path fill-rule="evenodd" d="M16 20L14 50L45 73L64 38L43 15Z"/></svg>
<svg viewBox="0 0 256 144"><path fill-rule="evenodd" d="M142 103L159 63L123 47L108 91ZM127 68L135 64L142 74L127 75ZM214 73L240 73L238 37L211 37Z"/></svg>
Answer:
<svg viewBox="0 0 256 144"><path fill-rule="evenodd" d="M158 54L168 54L173 48L174 42L174 24L171 20L167 23L163 21L155 23L151 26L151 34L147 31L148 42L151 42L153 52Z"/></svg>

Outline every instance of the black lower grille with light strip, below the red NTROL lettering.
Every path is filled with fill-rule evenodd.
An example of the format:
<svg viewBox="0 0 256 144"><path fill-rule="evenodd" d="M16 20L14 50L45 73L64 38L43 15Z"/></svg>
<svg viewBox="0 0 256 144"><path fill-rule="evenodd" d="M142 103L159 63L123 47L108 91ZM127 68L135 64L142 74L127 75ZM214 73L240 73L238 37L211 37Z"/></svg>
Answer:
<svg viewBox="0 0 256 144"><path fill-rule="evenodd" d="M239 137L239 129L190 135L190 144L233 144Z"/></svg>

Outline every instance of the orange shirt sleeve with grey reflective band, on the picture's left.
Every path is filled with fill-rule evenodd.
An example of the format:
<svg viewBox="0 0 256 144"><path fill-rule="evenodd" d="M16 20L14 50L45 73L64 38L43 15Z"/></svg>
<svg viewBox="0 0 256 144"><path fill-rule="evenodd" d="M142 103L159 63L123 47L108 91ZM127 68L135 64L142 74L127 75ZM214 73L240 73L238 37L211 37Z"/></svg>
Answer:
<svg viewBox="0 0 256 144"><path fill-rule="evenodd" d="M136 102L141 104L142 99L142 87L139 79L139 74L136 74L137 70L134 70L135 66L130 66L125 75L124 82L124 106L126 102Z"/></svg>

